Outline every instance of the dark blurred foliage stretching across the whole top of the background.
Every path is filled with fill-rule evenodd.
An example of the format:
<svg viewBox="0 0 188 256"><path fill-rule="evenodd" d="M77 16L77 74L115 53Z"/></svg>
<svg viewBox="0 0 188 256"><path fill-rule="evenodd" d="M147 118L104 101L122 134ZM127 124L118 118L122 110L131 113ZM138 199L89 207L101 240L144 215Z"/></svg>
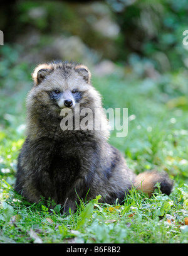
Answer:
<svg viewBox="0 0 188 256"><path fill-rule="evenodd" d="M9 42L32 30L41 33L41 40L44 35L76 35L102 57L125 64L130 54L135 53L150 60L160 72L169 72L188 66L188 49L182 44L187 11L187 0L106 0L80 4L15 0L14 4L2 6L0 21ZM98 19L107 16L120 27L115 38L93 30Z"/></svg>

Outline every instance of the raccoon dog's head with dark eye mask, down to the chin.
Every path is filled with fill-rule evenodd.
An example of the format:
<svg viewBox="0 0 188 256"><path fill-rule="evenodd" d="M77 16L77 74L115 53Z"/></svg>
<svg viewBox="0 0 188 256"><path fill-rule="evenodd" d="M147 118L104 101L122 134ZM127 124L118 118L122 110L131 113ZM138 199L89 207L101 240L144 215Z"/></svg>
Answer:
<svg viewBox="0 0 188 256"><path fill-rule="evenodd" d="M100 94L91 86L90 70L85 65L68 62L40 64L34 70L34 87L28 98L58 111L63 108L100 108Z"/></svg>

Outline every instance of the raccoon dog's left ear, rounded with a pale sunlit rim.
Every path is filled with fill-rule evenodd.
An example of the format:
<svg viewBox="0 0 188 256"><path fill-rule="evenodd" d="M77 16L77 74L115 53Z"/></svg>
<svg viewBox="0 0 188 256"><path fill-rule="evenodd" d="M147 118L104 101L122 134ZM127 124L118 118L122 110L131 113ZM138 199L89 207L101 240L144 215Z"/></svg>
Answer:
<svg viewBox="0 0 188 256"><path fill-rule="evenodd" d="M40 84L44 80L46 75L49 75L52 71L53 71L53 68L50 67L50 65L47 65L47 64L38 65L38 67L36 67L36 69L32 74L34 85L38 86L38 84Z"/></svg>

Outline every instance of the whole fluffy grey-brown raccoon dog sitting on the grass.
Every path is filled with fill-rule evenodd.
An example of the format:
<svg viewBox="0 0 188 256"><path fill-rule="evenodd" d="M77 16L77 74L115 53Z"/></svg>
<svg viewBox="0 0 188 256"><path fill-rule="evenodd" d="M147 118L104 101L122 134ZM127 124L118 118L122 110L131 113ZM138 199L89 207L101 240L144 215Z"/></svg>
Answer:
<svg viewBox="0 0 188 256"><path fill-rule="evenodd" d="M68 62L41 64L34 70L34 86L26 100L27 138L18 157L16 191L31 203L39 202L41 196L51 198L65 211L75 210L78 196L92 199L100 194L101 202L113 204L118 198L121 203L132 187L150 196L156 182L163 193L170 194L173 182L165 172L135 175L117 148L108 143L107 118L90 78L85 65ZM72 129L62 129L62 109L72 112ZM93 129L74 125L83 109L92 113L101 109L99 115L93 114ZM80 114L80 122L83 118ZM99 121L105 129L95 129Z"/></svg>

